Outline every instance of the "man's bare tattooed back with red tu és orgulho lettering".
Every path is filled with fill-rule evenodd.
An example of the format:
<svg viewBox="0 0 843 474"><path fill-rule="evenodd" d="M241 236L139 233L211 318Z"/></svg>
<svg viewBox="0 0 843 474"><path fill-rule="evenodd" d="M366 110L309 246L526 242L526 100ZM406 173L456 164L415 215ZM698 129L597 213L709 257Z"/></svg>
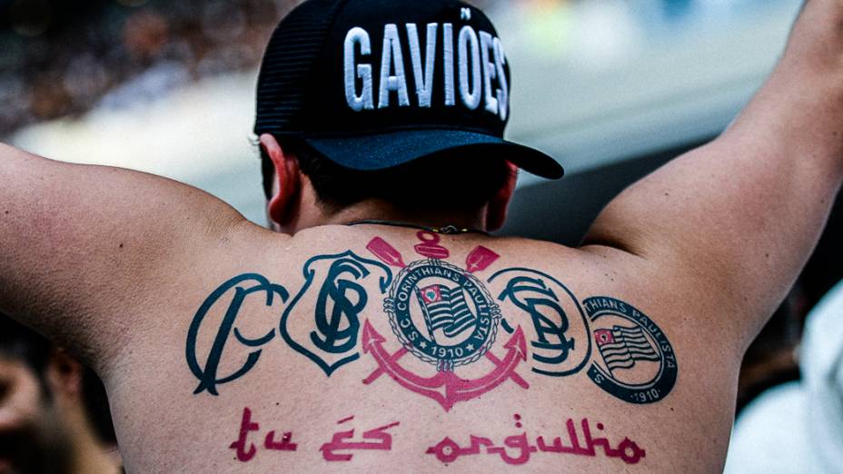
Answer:
<svg viewBox="0 0 843 474"><path fill-rule="evenodd" d="M606 252L376 224L233 233L213 270L155 291L172 316L114 360L124 459L719 469L730 411L709 410L734 403L737 348Z"/></svg>

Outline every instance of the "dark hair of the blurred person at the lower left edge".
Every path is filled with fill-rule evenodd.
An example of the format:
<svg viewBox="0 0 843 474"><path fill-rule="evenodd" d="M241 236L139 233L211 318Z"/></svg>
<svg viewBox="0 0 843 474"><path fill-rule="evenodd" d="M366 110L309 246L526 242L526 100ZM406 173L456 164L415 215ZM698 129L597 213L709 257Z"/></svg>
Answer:
<svg viewBox="0 0 843 474"><path fill-rule="evenodd" d="M0 356L19 360L35 373L47 400L52 394L47 390L46 369L55 346L44 336L0 314ZM103 380L84 364L82 365L82 393L85 413L99 439L116 442L114 423L105 396Z"/></svg>

